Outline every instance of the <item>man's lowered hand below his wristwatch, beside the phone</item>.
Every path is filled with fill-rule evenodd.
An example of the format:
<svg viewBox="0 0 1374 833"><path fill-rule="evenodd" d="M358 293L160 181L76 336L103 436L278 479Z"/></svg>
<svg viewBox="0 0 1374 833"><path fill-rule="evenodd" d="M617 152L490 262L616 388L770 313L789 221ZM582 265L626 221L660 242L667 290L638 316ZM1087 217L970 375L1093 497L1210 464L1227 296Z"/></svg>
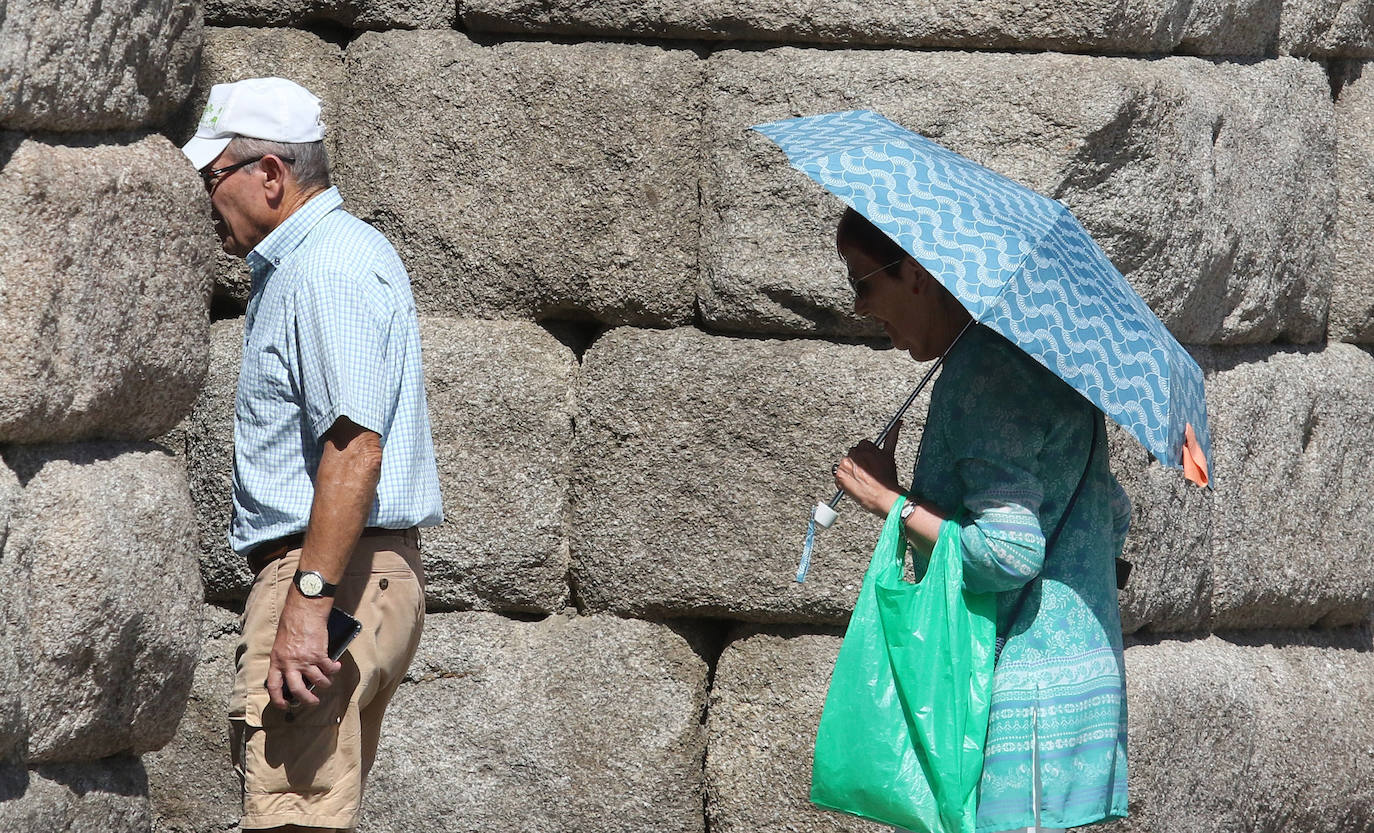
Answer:
<svg viewBox="0 0 1374 833"><path fill-rule="evenodd" d="M334 599L308 599L294 587L287 590L282 621L272 643L272 660L267 672L267 693L272 705L287 708L287 700L316 705L320 698L306 690L330 687L330 678L342 663L328 657L328 617ZM290 697L289 697L290 696Z"/></svg>

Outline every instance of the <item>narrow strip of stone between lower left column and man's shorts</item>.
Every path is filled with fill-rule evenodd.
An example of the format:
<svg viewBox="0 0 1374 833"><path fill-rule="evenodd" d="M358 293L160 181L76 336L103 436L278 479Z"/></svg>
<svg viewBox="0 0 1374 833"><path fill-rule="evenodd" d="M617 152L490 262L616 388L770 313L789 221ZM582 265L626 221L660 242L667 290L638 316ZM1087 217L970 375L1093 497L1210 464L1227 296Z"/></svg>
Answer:
<svg viewBox="0 0 1374 833"><path fill-rule="evenodd" d="M239 821L239 781L229 766L225 719L239 614L206 605L202 621L205 641L181 724L170 744L143 756L153 833L224 832Z"/></svg>

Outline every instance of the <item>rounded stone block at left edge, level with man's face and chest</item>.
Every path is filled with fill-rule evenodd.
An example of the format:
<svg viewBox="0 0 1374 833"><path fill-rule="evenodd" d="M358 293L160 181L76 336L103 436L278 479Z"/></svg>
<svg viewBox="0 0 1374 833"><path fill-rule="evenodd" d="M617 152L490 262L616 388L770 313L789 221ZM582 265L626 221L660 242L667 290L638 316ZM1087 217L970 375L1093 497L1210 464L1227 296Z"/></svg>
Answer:
<svg viewBox="0 0 1374 833"><path fill-rule="evenodd" d="M144 440L205 375L205 190L161 136L0 133L0 443Z"/></svg>

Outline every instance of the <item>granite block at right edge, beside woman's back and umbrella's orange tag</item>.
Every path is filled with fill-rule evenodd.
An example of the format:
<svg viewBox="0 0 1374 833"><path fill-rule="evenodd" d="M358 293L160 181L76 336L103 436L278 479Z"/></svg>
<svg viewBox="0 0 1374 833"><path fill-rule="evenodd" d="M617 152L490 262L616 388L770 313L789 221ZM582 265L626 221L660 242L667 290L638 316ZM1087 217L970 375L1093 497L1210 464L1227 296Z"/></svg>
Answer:
<svg viewBox="0 0 1374 833"><path fill-rule="evenodd" d="M1125 632L1344 627L1374 613L1374 357L1326 349L1194 348L1206 377L1210 489L1112 427L1132 500Z"/></svg>

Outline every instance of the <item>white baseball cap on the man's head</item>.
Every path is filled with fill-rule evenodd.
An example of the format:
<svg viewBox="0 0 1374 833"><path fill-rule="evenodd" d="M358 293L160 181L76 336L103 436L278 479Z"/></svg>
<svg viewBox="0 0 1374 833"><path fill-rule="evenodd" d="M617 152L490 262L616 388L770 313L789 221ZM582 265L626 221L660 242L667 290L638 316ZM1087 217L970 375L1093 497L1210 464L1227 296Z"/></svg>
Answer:
<svg viewBox="0 0 1374 833"><path fill-rule="evenodd" d="M286 78L245 78L216 84L195 136L181 147L199 170L224 153L235 136L268 142L324 139L320 99Z"/></svg>

